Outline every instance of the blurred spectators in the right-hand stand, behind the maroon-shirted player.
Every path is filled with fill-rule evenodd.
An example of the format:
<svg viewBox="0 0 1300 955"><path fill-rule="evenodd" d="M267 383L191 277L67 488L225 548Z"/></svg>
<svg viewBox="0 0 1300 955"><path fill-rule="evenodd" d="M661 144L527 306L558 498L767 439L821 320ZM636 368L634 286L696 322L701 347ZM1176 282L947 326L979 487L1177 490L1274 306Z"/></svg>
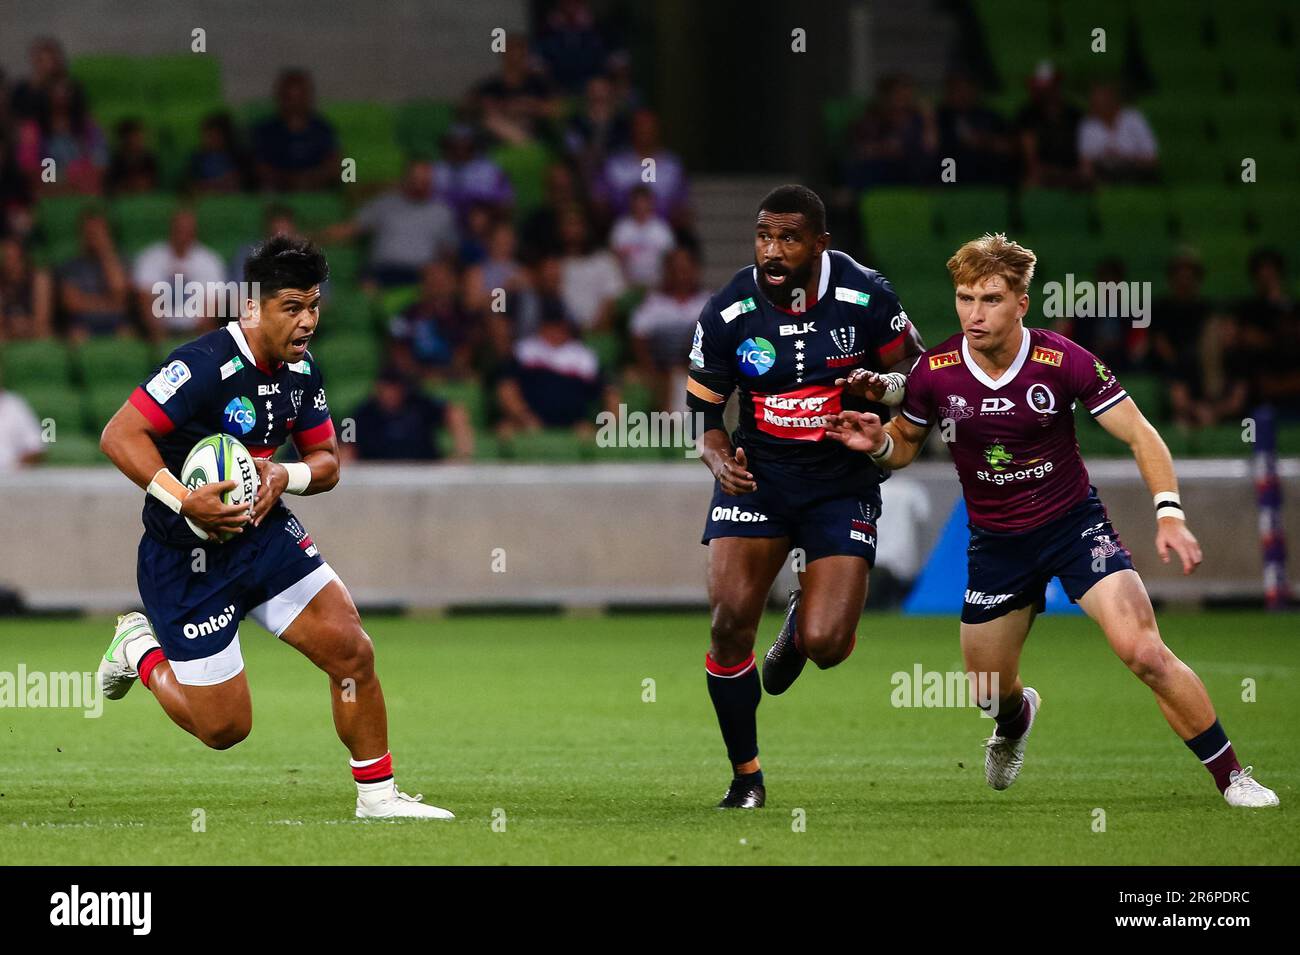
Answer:
<svg viewBox="0 0 1300 955"><path fill-rule="evenodd" d="M881 77L848 130L837 174L854 195L931 186L945 159L956 160L962 185L1009 190L1156 187L1161 170L1150 125L1124 101L1115 82L1093 83L1084 105L1071 99L1061 73L1044 61L1028 77L1023 105L1010 117L987 105L966 73L946 78L937 105L920 96L907 75ZM1225 231L1230 227L1223 223ZM1079 264L1093 268L1091 278L1098 283L1134 278L1123 257ZM1283 249L1268 244L1253 249L1245 269L1252 294L1214 300L1202 291L1202 256L1193 247L1179 248L1165 264L1164 287L1153 290L1149 327L1134 327L1124 318L1078 318L1060 321L1058 330L1121 374L1158 376L1167 383L1167 414L1184 427L1236 424L1261 403L1274 405L1283 420L1300 422L1295 277Z"/></svg>

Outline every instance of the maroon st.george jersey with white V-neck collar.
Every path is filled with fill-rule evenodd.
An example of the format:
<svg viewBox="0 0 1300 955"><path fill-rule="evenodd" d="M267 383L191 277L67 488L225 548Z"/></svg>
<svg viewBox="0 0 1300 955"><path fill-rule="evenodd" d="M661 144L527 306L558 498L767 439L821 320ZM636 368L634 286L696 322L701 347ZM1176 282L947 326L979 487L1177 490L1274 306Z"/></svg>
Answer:
<svg viewBox="0 0 1300 955"><path fill-rule="evenodd" d="M1124 398L1087 348L1054 331L1023 329L1015 361L997 381L971 360L965 335L927 350L907 377L902 413L922 427L940 426L971 524L1020 531L1088 496L1074 403L1096 417Z"/></svg>

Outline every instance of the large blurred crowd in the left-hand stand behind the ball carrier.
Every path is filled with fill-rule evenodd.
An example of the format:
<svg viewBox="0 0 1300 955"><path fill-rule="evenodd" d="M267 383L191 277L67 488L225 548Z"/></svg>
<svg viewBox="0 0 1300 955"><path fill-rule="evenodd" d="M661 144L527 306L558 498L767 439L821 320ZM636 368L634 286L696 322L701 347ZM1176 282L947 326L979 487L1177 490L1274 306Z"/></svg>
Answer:
<svg viewBox="0 0 1300 955"><path fill-rule="evenodd" d="M386 438L359 439L355 455L436 457L441 443L468 456L465 409L425 387L445 381L482 382L500 437L592 431L595 412L616 407L623 381L677 407L682 356L707 296L686 173L632 82L627 52L585 1L562 0L537 36L508 36L499 60L455 105L437 155L408 156L399 182L370 188L341 182L339 139L317 109L312 75L285 69L272 116L250 127L225 110L202 120L168 234L127 256L104 200L164 188L150 118L103 130L94 91L72 75L58 42L34 40L26 74L0 74L0 342L126 335L162 344L216 327L231 316L211 303L203 314L157 307L155 283L177 274L205 287L238 281L254 243L303 234L280 197L343 190L351 214L309 238L326 253L364 249L358 281L372 300L411 290L410 304L377 330L382 373L355 409L367 422L359 434ZM517 208L491 157L521 143L552 157L545 196L529 209ZM43 175L48 159L53 182ZM69 194L86 197L79 251L40 262L39 200ZM265 197L264 235L248 235L229 261L200 240L195 209L196 199L225 194ZM439 429L454 439L439 442Z"/></svg>

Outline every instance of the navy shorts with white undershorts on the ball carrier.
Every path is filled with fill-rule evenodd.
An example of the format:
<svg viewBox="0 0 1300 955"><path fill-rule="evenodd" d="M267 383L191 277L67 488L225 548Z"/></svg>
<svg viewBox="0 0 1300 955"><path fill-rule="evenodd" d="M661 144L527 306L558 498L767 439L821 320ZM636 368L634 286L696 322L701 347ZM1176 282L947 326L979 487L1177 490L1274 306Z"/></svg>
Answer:
<svg viewBox="0 0 1300 955"><path fill-rule="evenodd" d="M144 615L182 683L222 683L243 669L239 621L280 637L337 574L286 507L224 544L170 547L146 534L135 570Z"/></svg>

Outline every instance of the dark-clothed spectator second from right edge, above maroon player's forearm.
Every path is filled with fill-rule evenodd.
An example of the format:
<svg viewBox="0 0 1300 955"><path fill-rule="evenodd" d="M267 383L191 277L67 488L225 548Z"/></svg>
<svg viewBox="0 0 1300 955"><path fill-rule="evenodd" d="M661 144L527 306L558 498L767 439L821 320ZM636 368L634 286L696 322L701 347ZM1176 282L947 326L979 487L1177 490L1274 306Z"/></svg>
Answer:
<svg viewBox="0 0 1300 955"><path fill-rule="evenodd" d="M1195 252L1182 249L1170 259L1165 277L1169 291L1152 303L1152 366L1169 382L1170 409L1178 424L1213 425L1219 414L1205 377L1205 333L1213 317L1201 294L1205 266Z"/></svg>

